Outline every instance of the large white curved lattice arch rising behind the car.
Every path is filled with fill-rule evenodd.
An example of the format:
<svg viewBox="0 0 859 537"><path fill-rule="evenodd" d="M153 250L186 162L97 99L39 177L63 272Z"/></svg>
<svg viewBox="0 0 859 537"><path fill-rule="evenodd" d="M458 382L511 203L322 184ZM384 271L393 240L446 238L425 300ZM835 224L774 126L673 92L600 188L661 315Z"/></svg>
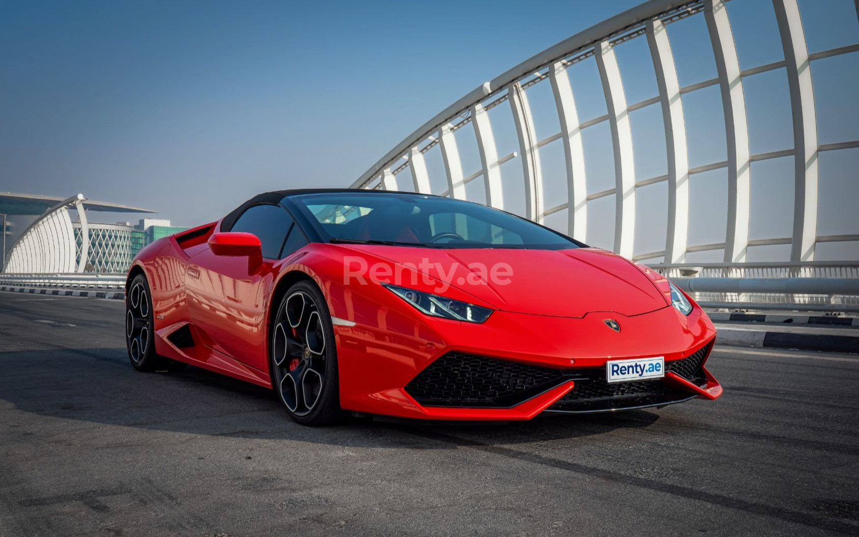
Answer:
<svg viewBox="0 0 859 537"><path fill-rule="evenodd" d="M566 225L556 227L587 242L592 231L588 229L589 213L595 216L594 207L588 208L588 205L597 199L613 196L613 249L631 259L649 259L656 263L669 264L684 263L687 253L723 251L717 255L724 262L741 263L746 262L749 247L790 245L789 259L783 260L799 263L814 260L815 245L819 242L859 241L859 225L850 235L818 235L819 154L821 151L859 148L859 140L827 144L818 142L811 67L815 59L857 52L859 43L809 53L797 0L771 1L784 53L784 59L781 61L746 70L740 69L731 21L725 6L726 3L752 0L650 0L539 52L533 58L475 88L405 138L362 174L352 186L396 189L396 175L411 166L416 192L430 192L430 185L446 182L446 192L433 193L467 198L466 184L482 178L485 203L510 211L509 206L505 207L503 188L509 188L511 183L504 180L504 174L508 172L505 168L502 174L501 166L504 162L519 158L524 180L524 196L521 201L525 217L542 223L545 217L566 211ZM712 45L716 77L683 87L674 64L677 51L672 50L666 28L687 17L700 17L701 27L706 27L701 37ZM658 95L640 102L627 102L628 92L624 91L623 72L618 67L614 49L620 43L635 39L647 41L655 68ZM592 57L599 70L599 83L605 97L607 113L582 123L576 111L576 95L570 83L571 77L574 76L570 66ZM743 79L770 70L783 70L786 74L794 147L754 155L750 151ZM551 84L560 131L540 139L534 128L528 94L533 86L546 80ZM573 80L575 82L575 79ZM691 167L687 135L689 117L684 114L683 95L710 86L719 88L721 93L727 158L723 162ZM509 113L512 115L518 141L518 151L506 156L498 153L496 139L501 138L497 132L493 132L488 113L503 101L509 101ZM667 174L637 177L630 113L657 103L661 107L665 131ZM503 108L499 110L503 111ZM855 110L853 113L855 118ZM585 162L588 162L589 156L583 149L582 131L602 122L606 122L611 131L614 186L601 192L588 192ZM472 124L476 137L481 168L466 176L471 170L462 169L461 162L465 161L461 159L459 148L463 147L463 144L457 144L456 136L460 136L457 132L460 127L468 123ZM564 146L565 174L562 176L546 173L542 165L544 159L541 158L539 150L558 139L563 141ZM424 164L423 155L433 150L436 145L441 145L446 181L430 181ZM792 235L752 239L749 234L752 214L752 162L783 157L792 157L795 161L791 182L794 191ZM724 240L713 244L690 245L690 179L695 174L714 169L725 169L728 176ZM557 188L550 189L552 181L565 183L566 199L547 198L545 192L557 192ZM636 227L637 212L641 212L645 207L637 207L637 201L638 204L643 203L643 198L637 196L637 191L643 186L663 181L667 183L668 212L665 248L658 252L642 252L641 248L636 248ZM510 198L507 199L507 204L510 204ZM600 206L605 208L606 204Z"/></svg>

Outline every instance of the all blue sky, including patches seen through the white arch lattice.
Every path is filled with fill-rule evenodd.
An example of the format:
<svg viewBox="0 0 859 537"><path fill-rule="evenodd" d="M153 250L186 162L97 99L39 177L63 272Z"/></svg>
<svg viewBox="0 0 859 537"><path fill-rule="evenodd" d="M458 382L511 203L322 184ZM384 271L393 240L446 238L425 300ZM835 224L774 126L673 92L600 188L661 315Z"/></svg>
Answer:
<svg viewBox="0 0 859 537"><path fill-rule="evenodd" d="M0 0L0 191L83 192L193 225L264 190L348 186L472 88L637 3ZM825 4L820 9L801 0L809 49L859 41L852 0ZM771 3L733 0L728 12L743 68L782 58ZM716 76L703 27L701 16L668 27L681 85ZM813 65L815 86L823 80L829 92L821 97L821 143L859 138L850 95L857 57L854 52ZM618 62L629 102L655 95L645 40L619 46ZM605 113L589 70L595 68L583 62L570 71L582 120ZM752 153L793 143L783 79L777 70L744 81ZM557 115L548 84L535 86L530 99L538 135L550 135ZM684 107L691 165L723 160L718 89L684 95ZM512 125L500 114L492 118L499 132L505 122ZM654 157L664 151L658 105L633 113L631 122L638 179L665 173L664 156ZM613 183L607 125L585 136L593 156L586 159L588 192L595 192ZM504 155L503 146L513 147L515 138L509 131L497 137ZM549 146L546 151L546 162L559 162ZM826 212L836 213L844 203L839 200L859 197L853 186L859 181L847 171L856 168L859 155L831 162L835 186L821 192L821 203L832 204ZM752 209L760 216L752 218L752 235L789 235L783 216L792 207L792 192L779 181L790 174L790 162L756 166L761 180L752 185ZM713 229L724 229L723 172L692 182L693 210L708 213L696 224L700 229L691 229L692 243L717 241ZM646 188L641 195L651 209L643 215L649 217L665 204L665 186ZM756 195L765 201L756 202ZM613 202L608 205L605 222L592 211L594 229L604 228L606 237L613 225ZM859 233L850 230L857 226L849 215L822 224L832 233ZM664 223L637 237L637 253L661 249L664 239L648 236L660 229L664 238Z"/></svg>

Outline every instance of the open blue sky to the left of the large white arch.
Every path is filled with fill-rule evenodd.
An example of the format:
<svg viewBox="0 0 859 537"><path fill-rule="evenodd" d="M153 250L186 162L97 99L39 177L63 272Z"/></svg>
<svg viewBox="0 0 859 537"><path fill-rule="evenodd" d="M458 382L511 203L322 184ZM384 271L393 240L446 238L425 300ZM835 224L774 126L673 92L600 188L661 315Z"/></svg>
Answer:
<svg viewBox="0 0 859 537"><path fill-rule="evenodd" d="M531 28L516 3L3 3L0 188L192 224L264 189L349 185L484 80L635 3Z"/></svg>

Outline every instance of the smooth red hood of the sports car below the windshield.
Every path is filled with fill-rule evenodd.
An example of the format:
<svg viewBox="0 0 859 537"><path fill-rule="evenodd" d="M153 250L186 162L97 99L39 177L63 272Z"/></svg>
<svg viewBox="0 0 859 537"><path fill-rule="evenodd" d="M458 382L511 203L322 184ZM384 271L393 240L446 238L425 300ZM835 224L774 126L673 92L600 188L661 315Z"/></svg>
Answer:
<svg viewBox="0 0 859 537"><path fill-rule="evenodd" d="M635 265L598 248L343 246L394 264L417 266L420 272L445 284L437 290L440 295L444 287L455 287L494 308L514 313L583 317L594 311L612 311L630 316L669 305ZM399 284L408 287L409 281Z"/></svg>

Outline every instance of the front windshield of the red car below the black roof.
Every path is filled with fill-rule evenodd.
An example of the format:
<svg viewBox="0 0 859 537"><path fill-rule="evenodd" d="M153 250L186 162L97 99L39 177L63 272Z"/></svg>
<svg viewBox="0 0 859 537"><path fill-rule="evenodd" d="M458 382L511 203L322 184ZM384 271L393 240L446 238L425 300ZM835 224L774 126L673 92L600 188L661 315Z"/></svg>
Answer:
<svg viewBox="0 0 859 537"><path fill-rule="evenodd" d="M443 248L583 246L524 218L451 198L326 192L295 196L326 240Z"/></svg>

